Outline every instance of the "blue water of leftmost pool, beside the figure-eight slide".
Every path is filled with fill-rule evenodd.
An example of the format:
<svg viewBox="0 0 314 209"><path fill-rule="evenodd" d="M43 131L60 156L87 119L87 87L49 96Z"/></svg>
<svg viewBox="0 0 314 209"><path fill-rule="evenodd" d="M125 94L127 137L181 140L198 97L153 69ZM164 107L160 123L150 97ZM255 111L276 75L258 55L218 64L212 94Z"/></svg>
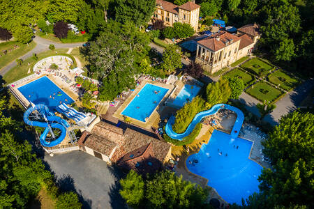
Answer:
<svg viewBox="0 0 314 209"><path fill-rule="evenodd" d="M53 111L54 108L60 104L60 101L66 104L71 104L74 102L74 100L72 100L46 76L17 89L27 100L33 102L34 104L45 104L51 111ZM50 98L50 95L52 98ZM66 102L66 100L68 101Z"/></svg>

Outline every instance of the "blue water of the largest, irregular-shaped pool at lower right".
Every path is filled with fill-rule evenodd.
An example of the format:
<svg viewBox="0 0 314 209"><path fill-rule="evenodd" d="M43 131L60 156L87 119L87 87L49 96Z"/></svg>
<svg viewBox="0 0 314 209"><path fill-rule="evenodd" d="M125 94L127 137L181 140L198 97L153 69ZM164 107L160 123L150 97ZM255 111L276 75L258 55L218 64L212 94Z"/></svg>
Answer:
<svg viewBox="0 0 314 209"><path fill-rule="evenodd" d="M207 185L214 187L225 201L241 205L242 198L247 199L253 192L259 192L257 178L262 167L248 159L252 145L251 141L232 139L230 134L214 130L209 143L203 144L199 153L188 157L186 167L207 178Z"/></svg>

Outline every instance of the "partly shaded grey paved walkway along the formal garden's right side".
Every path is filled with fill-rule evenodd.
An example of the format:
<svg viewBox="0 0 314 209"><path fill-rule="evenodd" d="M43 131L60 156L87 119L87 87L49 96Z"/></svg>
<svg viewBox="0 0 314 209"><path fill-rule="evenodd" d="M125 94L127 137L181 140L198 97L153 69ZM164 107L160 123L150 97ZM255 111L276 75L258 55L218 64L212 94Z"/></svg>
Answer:
<svg viewBox="0 0 314 209"><path fill-rule="evenodd" d="M264 118L264 121L271 123L272 125L277 125L281 116L289 114L290 112L297 109L299 104L306 98L306 96L311 93L312 88L314 88L314 80L308 79L306 82L301 84L287 93L285 97L276 102L276 109Z"/></svg>

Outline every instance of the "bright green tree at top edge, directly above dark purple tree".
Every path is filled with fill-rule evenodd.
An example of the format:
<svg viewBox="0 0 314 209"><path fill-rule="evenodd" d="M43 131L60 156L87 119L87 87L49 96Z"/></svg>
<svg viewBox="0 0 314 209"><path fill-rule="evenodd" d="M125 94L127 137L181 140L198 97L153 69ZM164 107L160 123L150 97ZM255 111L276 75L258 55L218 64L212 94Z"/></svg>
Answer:
<svg viewBox="0 0 314 209"><path fill-rule="evenodd" d="M83 6L83 0L51 0L48 15L53 22L71 22L76 24Z"/></svg>

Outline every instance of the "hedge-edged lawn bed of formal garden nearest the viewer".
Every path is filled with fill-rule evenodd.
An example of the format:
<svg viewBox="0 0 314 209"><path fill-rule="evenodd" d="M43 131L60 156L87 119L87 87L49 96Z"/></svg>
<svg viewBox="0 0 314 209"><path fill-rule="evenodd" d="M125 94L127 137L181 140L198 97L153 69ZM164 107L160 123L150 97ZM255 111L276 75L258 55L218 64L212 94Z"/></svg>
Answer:
<svg viewBox="0 0 314 209"><path fill-rule="evenodd" d="M274 88L273 86L269 86L269 84L264 82L254 84L254 86L248 88L246 92L261 102L264 102L265 100L267 102L273 102L276 98L283 94L282 91Z"/></svg>

